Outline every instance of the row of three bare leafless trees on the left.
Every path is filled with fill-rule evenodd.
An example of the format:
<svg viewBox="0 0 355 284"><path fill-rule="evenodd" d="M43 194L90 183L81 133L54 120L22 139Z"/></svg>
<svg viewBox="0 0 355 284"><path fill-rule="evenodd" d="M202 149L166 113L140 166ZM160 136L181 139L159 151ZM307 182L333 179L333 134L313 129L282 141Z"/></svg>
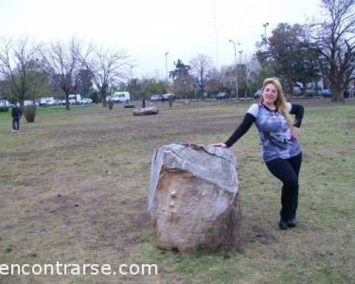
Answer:
<svg viewBox="0 0 355 284"><path fill-rule="evenodd" d="M65 97L69 109L69 94L88 94L92 87L106 106L109 85L127 80L130 66L131 58L123 51L84 45L76 38L68 43L34 43L28 38L0 42L1 89L21 107L25 99L56 93Z"/></svg>

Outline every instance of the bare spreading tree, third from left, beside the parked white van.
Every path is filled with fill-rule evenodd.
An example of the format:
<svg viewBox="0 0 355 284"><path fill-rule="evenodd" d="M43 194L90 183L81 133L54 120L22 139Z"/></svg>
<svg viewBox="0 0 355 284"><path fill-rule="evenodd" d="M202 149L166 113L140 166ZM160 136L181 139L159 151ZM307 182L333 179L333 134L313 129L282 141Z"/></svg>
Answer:
<svg viewBox="0 0 355 284"><path fill-rule="evenodd" d="M85 53L78 52L84 69L88 70L92 81L102 97L102 106L107 107L107 91L109 85L119 84L129 78L131 60L119 50L89 45Z"/></svg>

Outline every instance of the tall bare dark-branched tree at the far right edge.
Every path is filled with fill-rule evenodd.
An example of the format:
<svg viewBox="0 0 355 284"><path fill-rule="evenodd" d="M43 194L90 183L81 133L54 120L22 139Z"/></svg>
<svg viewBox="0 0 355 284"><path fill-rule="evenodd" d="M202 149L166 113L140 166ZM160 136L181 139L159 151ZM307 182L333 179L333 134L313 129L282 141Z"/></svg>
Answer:
<svg viewBox="0 0 355 284"><path fill-rule="evenodd" d="M322 72L329 78L332 100L342 102L343 90L355 79L355 0L322 0L323 23L313 25L312 43L322 58Z"/></svg>

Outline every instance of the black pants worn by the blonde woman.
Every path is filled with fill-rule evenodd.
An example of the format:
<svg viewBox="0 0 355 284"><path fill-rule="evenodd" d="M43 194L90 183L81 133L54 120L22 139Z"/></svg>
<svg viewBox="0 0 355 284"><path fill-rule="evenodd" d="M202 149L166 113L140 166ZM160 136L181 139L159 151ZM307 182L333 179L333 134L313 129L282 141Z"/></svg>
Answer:
<svg viewBox="0 0 355 284"><path fill-rule="evenodd" d="M296 216L298 205L298 174L302 163L302 153L289 159L275 159L266 162L268 170L283 182L281 191L280 216L288 221Z"/></svg>

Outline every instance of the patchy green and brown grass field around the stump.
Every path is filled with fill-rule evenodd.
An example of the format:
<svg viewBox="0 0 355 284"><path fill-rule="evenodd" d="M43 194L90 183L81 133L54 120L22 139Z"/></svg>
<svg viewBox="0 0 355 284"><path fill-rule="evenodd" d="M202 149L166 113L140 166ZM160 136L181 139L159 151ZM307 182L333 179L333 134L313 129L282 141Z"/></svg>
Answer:
<svg viewBox="0 0 355 284"><path fill-rule="evenodd" d="M245 241L193 255L152 246L153 149L225 141L250 102L159 104L160 114L100 106L40 109L11 133L0 114L1 263L156 263L158 275L4 276L0 283L355 283L355 101L301 101L299 225L280 231L280 182L256 129L236 145ZM117 269L118 270L118 269Z"/></svg>

